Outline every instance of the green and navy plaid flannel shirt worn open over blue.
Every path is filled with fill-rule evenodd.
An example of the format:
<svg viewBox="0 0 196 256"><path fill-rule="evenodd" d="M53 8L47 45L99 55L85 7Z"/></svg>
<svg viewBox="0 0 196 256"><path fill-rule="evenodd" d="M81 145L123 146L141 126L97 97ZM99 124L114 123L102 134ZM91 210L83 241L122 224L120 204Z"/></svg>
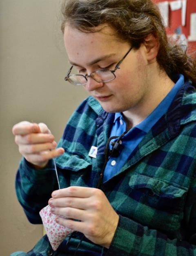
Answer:
<svg viewBox="0 0 196 256"><path fill-rule="evenodd" d="M96 187L113 120L114 114L105 112L92 97L73 113L59 142L65 154L56 159L61 188ZM88 156L91 146L98 147L96 159ZM55 189L52 161L38 171L22 159L16 191L31 223L41 223L39 211ZM120 173L101 189L120 216L116 233L109 249L85 238L77 255L196 255L196 92L190 83L179 90L168 112L145 135ZM73 255L79 239L80 234L72 238L67 249L63 242L52 255ZM28 254L11 256L49 252L44 236Z"/></svg>

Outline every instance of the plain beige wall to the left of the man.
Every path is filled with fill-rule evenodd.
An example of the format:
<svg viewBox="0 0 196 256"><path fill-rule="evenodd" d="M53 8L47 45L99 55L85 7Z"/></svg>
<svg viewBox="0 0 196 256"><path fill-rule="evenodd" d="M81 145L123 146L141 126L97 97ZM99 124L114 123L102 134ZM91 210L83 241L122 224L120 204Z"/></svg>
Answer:
<svg viewBox="0 0 196 256"><path fill-rule="evenodd" d="M69 64L58 20L60 0L0 0L0 255L30 250L42 236L14 189L20 161L11 133L22 120L45 122L60 139L87 96L63 81Z"/></svg>

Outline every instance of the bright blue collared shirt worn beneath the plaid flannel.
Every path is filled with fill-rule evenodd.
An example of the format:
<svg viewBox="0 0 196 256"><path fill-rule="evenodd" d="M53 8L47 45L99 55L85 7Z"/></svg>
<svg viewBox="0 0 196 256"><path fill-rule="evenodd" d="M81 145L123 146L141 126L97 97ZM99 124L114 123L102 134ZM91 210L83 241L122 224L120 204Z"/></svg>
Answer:
<svg viewBox="0 0 196 256"><path fill-rule="evenodd" d="M103 182L109 180L116 173L120 171L122 166L125 165L128 157L133 150L138 146L147 132L156 124L156 122L167 112L174 97L176 96L180 87L184 84L184 76L178 75L177 82L167 96L160 102L160 104L146 117L140 124L131 128L121 139L122 150L118 157L110 157L105 167ZM121 113L115 114L114 125L111 128L110 137L120 136L126 131L126 122ZM113 141L116 141L114 139ZM110 145L111 149L111 145Z"/></svg>

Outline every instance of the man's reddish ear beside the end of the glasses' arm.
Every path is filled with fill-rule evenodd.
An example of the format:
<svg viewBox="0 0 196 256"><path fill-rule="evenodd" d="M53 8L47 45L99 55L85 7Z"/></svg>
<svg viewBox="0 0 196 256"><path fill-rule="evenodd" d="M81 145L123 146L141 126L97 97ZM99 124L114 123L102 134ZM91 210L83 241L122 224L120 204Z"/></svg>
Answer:
<svg viewBox="0 0 196 256"><path fill-rule="evenodd" d="M144 39L145 54L149 63L154 62L159 50L159 42L153 34Z"/></svg>

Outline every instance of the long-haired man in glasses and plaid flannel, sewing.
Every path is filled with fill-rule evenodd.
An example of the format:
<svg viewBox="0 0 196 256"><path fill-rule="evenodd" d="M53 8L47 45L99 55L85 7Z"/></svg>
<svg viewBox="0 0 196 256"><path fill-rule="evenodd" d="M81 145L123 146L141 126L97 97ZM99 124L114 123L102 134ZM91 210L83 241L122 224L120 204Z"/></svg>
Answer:
<svg viewBox="0 0 196 256"><path fill-rule="evenodd" d="M67 0L62 10L65 80L90 96L58 148L45 124L13 127L16 191L31 223L49 203L77 232L56 252L44 236L11 256L196 255L196 60L168 42L151 0Z"/></svg>

